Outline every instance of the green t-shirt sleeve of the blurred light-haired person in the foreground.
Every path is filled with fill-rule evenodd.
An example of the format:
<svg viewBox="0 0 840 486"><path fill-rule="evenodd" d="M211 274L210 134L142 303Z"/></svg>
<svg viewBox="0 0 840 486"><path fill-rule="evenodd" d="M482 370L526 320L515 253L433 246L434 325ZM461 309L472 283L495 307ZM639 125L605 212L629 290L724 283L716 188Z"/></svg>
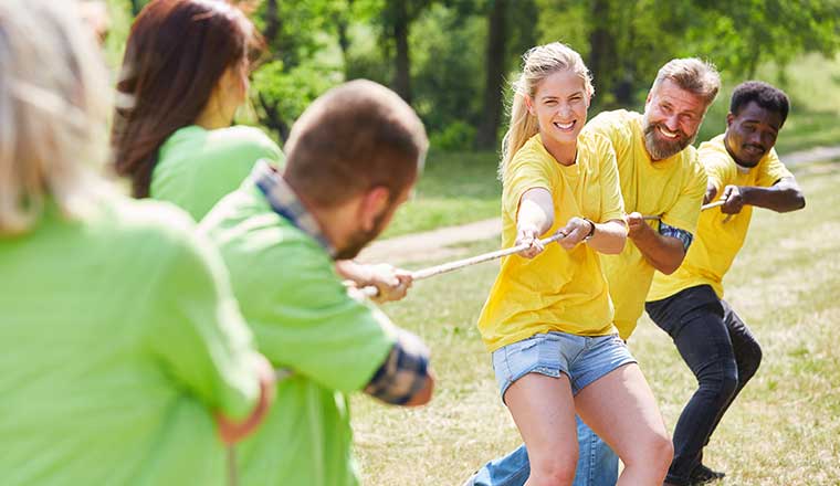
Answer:
<svg viewBox="0 0 840 486"><path fill-rule="evenodd" d="M183 235L161 273L149 340L167 374L211 410L243 419L260 397L251 331L214 249Z"/></svg>

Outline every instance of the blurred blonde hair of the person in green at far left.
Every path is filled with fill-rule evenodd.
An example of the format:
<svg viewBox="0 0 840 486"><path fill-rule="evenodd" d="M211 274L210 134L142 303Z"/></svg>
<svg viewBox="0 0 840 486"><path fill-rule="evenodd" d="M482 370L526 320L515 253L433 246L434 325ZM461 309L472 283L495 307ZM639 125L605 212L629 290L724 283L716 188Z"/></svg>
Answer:
<svg viewBox="0 0 840 486"><path fill-rule="evenodd" d="M0 235L28 231L49 199L90 208L82 162L107 154L109 76L75 1L0 1Z"/></svg>

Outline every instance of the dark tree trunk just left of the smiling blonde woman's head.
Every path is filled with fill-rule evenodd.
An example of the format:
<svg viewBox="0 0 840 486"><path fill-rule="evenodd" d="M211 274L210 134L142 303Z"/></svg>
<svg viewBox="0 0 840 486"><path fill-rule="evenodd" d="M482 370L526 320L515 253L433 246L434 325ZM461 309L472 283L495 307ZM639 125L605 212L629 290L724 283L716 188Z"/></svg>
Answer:
<svg viewBox="0 0 840 486"><path fill-rule="evenodd" d="M486 70L484 72L484 101L475 146L494 149L502 117L504 87L505 41L507 39L507 1L494 0L487 22Z"/></svg>

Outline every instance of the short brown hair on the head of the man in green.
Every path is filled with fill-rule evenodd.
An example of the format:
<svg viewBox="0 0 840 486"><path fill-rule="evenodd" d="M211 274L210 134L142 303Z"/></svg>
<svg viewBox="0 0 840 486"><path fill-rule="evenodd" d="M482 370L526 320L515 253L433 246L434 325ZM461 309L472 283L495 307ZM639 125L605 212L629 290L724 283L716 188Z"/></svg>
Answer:
<svg viewBox="0 0 840 486"><path fill-rule="evenodd" d="M301 115L285 145L285 179L307 202L337 207L376 187L391 200L417 179L428 139L396 93L357 80L328 91Z"/></svg>

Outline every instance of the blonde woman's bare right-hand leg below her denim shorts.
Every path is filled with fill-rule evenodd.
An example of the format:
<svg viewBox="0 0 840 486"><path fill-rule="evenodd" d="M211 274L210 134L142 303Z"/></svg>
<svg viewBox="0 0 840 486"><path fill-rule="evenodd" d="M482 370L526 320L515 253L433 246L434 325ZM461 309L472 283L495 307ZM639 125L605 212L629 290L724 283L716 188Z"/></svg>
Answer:
<svg viewBox="0 0 840 486"><path fill-rule="evenodd" d="M624 364L587 385L575 397L575 405L624 463L618 485L662 484L673 446L638 364Z"/></svg>

